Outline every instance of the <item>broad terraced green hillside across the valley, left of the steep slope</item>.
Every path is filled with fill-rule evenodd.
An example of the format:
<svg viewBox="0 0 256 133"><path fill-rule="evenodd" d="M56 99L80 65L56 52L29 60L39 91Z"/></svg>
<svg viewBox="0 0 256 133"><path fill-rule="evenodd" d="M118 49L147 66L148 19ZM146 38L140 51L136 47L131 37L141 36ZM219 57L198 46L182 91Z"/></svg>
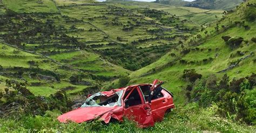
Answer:
<svg viewBox="0 0 256 133"><path fill-rule="evenodd" d="M1 1L1 81L25 82L36 95L78 93L149 65L201 29L133 5Z"/></svg>

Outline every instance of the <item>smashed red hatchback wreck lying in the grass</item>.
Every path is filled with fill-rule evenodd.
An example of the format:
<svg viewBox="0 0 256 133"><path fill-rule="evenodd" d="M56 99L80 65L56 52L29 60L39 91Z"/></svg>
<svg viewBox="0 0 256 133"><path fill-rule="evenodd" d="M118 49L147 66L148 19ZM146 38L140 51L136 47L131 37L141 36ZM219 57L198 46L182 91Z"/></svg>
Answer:
<svg viewBox="0 0 256 133"><path fill-rule="evenodd" d="M159 83L159 84L157 84ZM134 120L141 128L162 121L164 114L174 108L173 95L161 87L163 82L131 85L111 91L98 92L71 112L58 116L58 121L82 123L99 119L109 123L111 119L123 121L123 117Z"/></svg>

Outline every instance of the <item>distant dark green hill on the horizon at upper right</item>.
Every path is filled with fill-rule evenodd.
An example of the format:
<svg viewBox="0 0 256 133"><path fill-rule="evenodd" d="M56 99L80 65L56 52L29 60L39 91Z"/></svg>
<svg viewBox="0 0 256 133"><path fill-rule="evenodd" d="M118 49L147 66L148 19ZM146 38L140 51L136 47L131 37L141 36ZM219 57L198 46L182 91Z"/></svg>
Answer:
<svg viewBox="0 0 256 133"><path fill-rule="evenodd" d="M156 1L161 4L170 4L178 6L188 6L201 9L222 9L231 10L238 6L243 0L196 0L194 2L185 2L183 0Z"/></svg>

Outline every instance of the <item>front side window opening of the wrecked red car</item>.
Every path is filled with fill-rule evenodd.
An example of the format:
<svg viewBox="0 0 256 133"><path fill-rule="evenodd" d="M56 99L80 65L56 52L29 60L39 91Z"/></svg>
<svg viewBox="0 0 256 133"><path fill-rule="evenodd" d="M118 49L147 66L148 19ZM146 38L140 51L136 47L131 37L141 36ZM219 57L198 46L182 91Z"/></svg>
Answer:
<svg viewBox="0 0 256 133"><path fill-rule="evenodd" d="M130 91L129 91L130 92ZM128 92L128 94L129 94ZM127 92L126 92L127 93ZM136 105L141 105L142 99L140 98L139 92L137 88L134 88L132 93L128 96L128 98L125 100L125 106L131 107Z"/></svg>

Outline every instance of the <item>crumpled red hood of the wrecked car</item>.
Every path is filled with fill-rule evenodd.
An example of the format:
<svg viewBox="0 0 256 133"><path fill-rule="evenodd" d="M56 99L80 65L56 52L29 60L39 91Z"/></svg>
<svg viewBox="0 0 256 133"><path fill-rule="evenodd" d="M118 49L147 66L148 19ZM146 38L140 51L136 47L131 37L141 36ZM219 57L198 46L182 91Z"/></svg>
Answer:
<svg viewBox="0 0 256 133"><path fill-rule="evenodd" d="M62 123L66 123L68 121L82 123L110 112L114 108L116 107L82 107L60 115L57 119Z"/></svg>

